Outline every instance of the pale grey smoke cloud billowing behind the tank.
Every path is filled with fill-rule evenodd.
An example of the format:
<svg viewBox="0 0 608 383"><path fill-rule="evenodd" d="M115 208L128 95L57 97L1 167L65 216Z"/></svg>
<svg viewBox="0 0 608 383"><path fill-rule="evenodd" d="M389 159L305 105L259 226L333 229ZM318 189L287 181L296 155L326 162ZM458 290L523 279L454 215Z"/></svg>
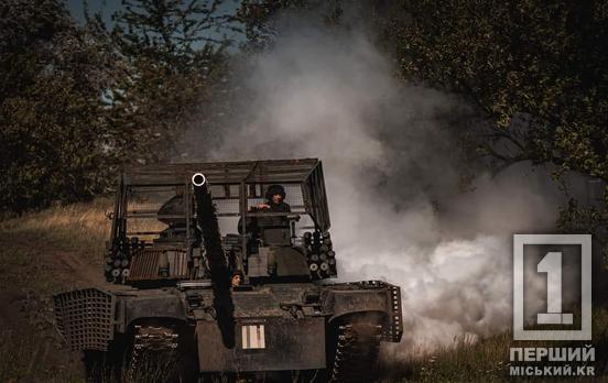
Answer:
<svg viewBox="0 0 608 383"><path fill-rule="evenodd" d="M550 227L555 193L521 166L463 193L464 102L395 79L356 32L284 32L240 80L213 157L323 160L340 278L402 286L401 350L508 328L511 236Z"/></svg>

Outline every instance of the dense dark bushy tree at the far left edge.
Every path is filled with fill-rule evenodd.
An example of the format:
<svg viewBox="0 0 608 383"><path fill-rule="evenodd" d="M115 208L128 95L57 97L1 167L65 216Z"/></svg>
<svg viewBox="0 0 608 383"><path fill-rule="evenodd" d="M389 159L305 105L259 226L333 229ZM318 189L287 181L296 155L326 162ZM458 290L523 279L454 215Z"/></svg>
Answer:
<svg viewBox="0 0 608 383"><path fill-rule="evenodd" d="M91 198L107 185L104 50L58 0L9 0L0 14L0 209Z"/></svg>

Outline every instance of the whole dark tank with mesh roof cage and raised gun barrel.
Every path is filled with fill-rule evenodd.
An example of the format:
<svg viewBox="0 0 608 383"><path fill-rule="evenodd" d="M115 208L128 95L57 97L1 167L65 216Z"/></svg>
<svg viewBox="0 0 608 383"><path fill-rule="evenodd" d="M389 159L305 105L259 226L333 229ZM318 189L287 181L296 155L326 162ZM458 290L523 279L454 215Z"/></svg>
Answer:
<svg viewBox="0 0 608 383"><path fill-rule="evenodd" d="M398 286L330 283L316 158L130 168L109 216L108 285L54 297L90 379L112 366L131 381L271 371L369 381L380 342L401 339Z"/></svg>

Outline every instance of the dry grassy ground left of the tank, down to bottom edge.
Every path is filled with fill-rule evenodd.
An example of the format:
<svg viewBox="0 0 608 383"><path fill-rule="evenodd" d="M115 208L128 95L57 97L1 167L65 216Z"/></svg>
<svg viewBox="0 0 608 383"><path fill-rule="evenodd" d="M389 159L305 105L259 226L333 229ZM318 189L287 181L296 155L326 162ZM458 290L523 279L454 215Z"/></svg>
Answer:
<svg viewBox="0 0 608 383"><path fill-rule="evenodd" d="M79 353L62 344L52 295L101 263L111 201L56 206L0 221L0 382L83 382Z"/></svg>

